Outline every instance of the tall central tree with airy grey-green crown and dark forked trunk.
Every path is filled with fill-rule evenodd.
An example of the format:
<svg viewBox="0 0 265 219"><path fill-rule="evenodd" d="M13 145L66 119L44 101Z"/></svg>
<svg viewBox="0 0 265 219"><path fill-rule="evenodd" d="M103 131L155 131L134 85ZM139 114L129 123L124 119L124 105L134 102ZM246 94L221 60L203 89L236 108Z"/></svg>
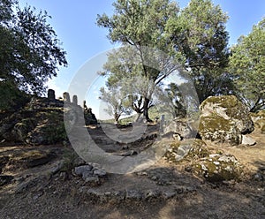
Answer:
<svg viewBox="0 0 265 219"><path fill-rule="evenodd" d="M109 29L110 42L119 42L131 47L119 49L109 55L104 72L101 72L102 75L109 76L107 86L116 87L120 79L126 79L131 83L135 77L143 82L159 85L169 72L162 71L154 65L163 65L163 61L166 63L169 60L150 60L154 57L154 51L147 48L162 50L168 55L174 55L174 59L178 60L178 51L173 48L170 38L165 33L170 17L176 17L178 14L178 5L169 0L117 0L113 6L114 15L98 15L97 24ZM132 84L129 87L132 87ZM130 94L131 106L137 113L143 113L147 120L150 120L148 109L152 105L154 87L140 87L144 89L138 94L129 91L129 94L133 93Z"/></svg>

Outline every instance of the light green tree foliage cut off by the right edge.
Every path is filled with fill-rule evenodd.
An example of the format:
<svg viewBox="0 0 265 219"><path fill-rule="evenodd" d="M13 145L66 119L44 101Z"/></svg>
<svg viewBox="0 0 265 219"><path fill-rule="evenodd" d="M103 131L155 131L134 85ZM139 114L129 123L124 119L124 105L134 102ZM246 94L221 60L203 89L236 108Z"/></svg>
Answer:
<svg viewBox="0 0 265 219"><path fill-rule="evenodd" d="M265 107L265 18L231 49L230 70L239 99L251 111Z"/></svg>

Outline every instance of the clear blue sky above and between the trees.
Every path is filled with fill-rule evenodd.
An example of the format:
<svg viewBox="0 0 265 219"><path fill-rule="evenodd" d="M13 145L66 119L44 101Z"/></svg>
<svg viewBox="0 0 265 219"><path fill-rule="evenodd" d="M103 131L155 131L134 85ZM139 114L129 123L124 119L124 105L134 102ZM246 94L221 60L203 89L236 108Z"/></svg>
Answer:
<svg viewBox="0 0 265 219"><path fill-rule="evenodd" d="M177 2L183 8L190 1ZM248 34L252 26L265 16L264 0L213 0L213 2L220 4L230 17L227 23L230 44L236 43L240 35ZM55 29L57 37L63 43L62 47L67 52L69 66L60 68L57 78L50 80L48 84L50 88L56 90L57 97L62 96L68 89L74 74L87 60L103 51L115 48L116 45L110 44L106 37L108 31L95 25L97 14L112 13L112 3L113 0L19 0L21 6L29 4L37 10L48 11L52 17L49 19L49 24ZM95 111L95 114L97 116L98 113Z"/></svg>

